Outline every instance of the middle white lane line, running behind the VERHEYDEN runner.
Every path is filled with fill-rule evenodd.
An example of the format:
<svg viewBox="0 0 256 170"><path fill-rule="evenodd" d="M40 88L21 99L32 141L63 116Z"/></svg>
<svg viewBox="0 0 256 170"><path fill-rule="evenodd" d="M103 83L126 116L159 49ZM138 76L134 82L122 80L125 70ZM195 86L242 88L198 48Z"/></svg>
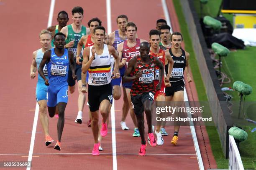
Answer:
<svg viewBox="0 0 256 170"><path fill-rule="evenodd" d="M107 7L107 25L108 25L108 34L112 32L111 27L111 3L110 0L106 0ZM116 160L116 140L115 140L115 100L113 98L113 103L111 107L111 130L112 130L112 152L113 152L113 170L117 170L117 160Z"/></svg>

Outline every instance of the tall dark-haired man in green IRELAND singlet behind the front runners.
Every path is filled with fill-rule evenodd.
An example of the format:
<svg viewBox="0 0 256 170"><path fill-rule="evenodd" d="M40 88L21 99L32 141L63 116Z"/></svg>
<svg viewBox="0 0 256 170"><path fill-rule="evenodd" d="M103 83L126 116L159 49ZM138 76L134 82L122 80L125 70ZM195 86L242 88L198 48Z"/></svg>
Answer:
<svg viewBox="0 0 256 170"><path fill-rule="evenodd" d="M68 50L73 51L74 53L74 61L76 62L77 56L77 43L81 39L83 35L90 34L90 29L86 28L82 25L82 20L84 18L84 10L82 7L74 7L72 9L72 19L73 23L71 25L67 25L66 27L61 29L61 32L66 35L66 47ZM82 53L79 54L82 60ZM80 121L78 123L82 123L82 111L84 109L85 102L85 94L82 92L82 80L81 80L81 68L82 65L76 64L76 75L77 75L77 85L78 85L78 117ZM76 81L72 78L71 69L69 69L69 92L72 94L75 90Z"/></svg>

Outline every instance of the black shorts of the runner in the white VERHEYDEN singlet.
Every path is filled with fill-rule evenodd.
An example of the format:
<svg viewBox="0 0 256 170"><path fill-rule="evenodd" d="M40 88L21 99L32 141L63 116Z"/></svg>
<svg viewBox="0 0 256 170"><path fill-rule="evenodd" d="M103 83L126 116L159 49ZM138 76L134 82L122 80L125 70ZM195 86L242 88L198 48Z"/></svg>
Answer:
<svg viewBox="0 0 256 170"><path fill-rule="evenodd" d="M109 100L112 103L112 85L88 85L88 103L91 112L99 110L102 100Z"/></svg>

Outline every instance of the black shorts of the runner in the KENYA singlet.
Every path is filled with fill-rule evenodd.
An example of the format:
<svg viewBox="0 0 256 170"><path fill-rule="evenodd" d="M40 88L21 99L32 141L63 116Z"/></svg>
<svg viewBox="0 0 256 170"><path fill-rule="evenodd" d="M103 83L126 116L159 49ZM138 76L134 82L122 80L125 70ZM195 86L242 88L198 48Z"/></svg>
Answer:
<svg viewBox="0 0 256 170"><path fill-rule="evenodd" d="M136 95L136 96L131 95L131 102L133 105L133 110L134 110L135 115L140 115L141 113L144 112L143 103L146 100L150 100L153 102L154 95L155 95L154 92L144 92L141 95Z"/></svg>

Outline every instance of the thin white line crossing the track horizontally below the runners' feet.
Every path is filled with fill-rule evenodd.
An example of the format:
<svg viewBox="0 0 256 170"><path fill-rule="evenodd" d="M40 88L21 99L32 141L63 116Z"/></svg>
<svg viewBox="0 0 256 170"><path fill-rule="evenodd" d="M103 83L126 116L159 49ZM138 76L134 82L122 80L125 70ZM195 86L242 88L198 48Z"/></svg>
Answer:
<svg viewBox="0 0 256 170"><path fill-rule="evenodd" d="M27 153L3 153L0 155L28 155L28 154ZM92 155L92 153L33 153L33 155ZM100 153L100 155L113 155L113 153ZM117 153L116 155L138 155L138 153ZM147 155L196 155L196 154L147 153Z"/></svg>

